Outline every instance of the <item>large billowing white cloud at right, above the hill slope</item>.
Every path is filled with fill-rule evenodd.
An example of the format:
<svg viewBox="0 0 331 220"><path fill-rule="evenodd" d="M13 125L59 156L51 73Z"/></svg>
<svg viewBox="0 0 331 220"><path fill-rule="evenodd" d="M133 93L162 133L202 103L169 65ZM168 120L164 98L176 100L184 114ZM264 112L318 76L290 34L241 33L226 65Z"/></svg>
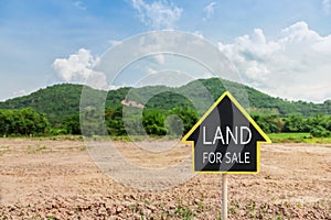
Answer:
<svg viewBox="0 0 331 220"><path fill-rule="evenodd" d="M312 101L331 97L331 35L319 35L306 22L281 30L277 40L256 29L218 47L247 84L268 94Z"/></svg>

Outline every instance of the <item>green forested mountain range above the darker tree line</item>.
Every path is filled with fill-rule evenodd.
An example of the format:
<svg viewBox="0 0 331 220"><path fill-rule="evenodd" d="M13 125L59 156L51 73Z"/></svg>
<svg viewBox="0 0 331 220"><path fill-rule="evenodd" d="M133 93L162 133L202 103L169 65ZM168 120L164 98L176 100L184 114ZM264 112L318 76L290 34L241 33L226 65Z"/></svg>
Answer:
<svg viewBox="0 0 331 220"><path fill-rule="evenodd" d="M52 124L62 123L68 116L79 112L82 85L62 84L40 89L31 95L9 99L0 102L0 109L22 109L32 108L40 113L45 113ZM85 87L87 88L87 87ZM225 89L226 88L226 89ZM175 107L199 107L201 111L206 110L210 105L205 100L216 100L225 90L232 95L250 112L261 112L264 114L299 114L313 116L318 113L331 114L331 100L323 103L312 103L305 101L286 101L260 92L252 87L222 80L217 78L199 79L182 87L170 88L166 86L148 86L142 88L119 88L106 91L87 88L94 97L106 97L106 108L119 108L121 101L127 103L143 103L148 108L170 110ZM210 97L209 97L210 96ZM245 97L248 102L246 103ZM186 98L189 97L189 98ZM90 100L93 105L96 98ZM203 113L203 112L200 112Z"/></svg>

